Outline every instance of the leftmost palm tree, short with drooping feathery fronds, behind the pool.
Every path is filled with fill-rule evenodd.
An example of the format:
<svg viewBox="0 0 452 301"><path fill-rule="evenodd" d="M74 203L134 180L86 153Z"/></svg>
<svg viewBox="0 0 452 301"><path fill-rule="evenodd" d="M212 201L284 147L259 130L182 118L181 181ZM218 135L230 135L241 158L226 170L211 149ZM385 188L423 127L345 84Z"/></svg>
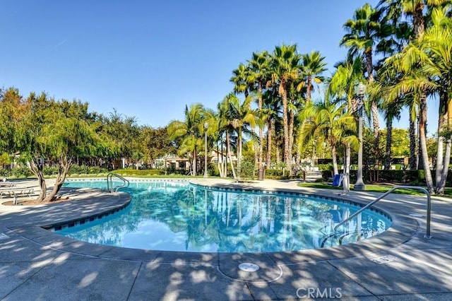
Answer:
<svg viewBox="0 0 452 301"><path fill-rule="evenodd" d="M195 103L190 108L185 106L185 120L181 122L174 120L168 125L168 134L171 139L182 138L179 153L189 154L193 159L191 163L191 175L196 176L196 167L198 162L198 147L203 143L203 112L204 107L201 103Z"/></svg>

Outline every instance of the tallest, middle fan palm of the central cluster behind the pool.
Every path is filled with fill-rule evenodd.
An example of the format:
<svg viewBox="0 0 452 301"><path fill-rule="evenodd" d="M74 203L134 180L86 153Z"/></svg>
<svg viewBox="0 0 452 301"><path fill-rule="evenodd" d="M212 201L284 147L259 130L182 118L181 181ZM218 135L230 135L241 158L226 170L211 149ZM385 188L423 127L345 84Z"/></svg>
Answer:
<svg viewBox="0 0 452 301"><path fill-rule="evenodd" d="M287 88L289 82L299 76L300 60L297 45L281 45L275 47L270 61L272 81L278 84L278 94L283 101L284 162L289 170L289 175L292 175L292 146L290 145Z"/></svg>

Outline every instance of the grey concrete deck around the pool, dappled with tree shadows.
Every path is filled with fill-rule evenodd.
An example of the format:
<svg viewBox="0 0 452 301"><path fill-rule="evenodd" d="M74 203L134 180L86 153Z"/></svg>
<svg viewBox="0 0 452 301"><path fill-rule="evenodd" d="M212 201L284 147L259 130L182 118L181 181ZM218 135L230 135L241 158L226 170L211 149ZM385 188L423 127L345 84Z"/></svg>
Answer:
<svg viewBox="0 0 452 301"><path fill-rule="evenodd" d="M340 190L301 188L295 180L193 182L343 198ZM369 240L302 252L203 254L100 246L40 228L130 201L124 193L65 193L72 201L0 205L0 300L452 300L450 199L432 197L429 240L426 197L391 194L376 207L391 214L393 227ZM350 191L346 199L368 203L379 195ZM245 262L260 269L240 271Z"/></svg>

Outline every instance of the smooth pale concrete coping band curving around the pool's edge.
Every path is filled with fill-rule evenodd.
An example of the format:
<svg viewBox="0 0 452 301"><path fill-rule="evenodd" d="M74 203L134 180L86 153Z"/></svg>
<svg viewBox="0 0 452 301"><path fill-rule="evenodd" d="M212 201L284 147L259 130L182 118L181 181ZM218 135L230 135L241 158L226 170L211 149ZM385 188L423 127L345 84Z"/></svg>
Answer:
<svg viewBox="0 0 452 301"><path fill-rule="evenodd" d="M203 186L203 181L194 180L190 181L193 184ZM221 188L225 185L232 187L240 187L240 189L256 190L254 187L246 187L244 185L220 182L220 184L209 184L209 187ZM207 185L206 185L207 186ZM316 191L309 194L305 189L297 188L299 194L302 195L314 195L331 198L334 196L335 191ZM295 193L294 189L280 189L273 188L268 191L278 191L281 193L289 192ZM131 197L125 193L107 194L109 196L115 196L114 203L109 203L107 208L97 208L95 213L90 213L92 216L105 213L106 211L116 210L121 206L128 204L131 201ZM359 201L359 195L347 196L347 199L343 196L334 196L335 199L352 199L353 203L361 203L365 205L365 201ZM108 196L107 196L108 199ZM89 201L88 200L85 200ZM208 265L208 266L228 266L228 262L265 262L266 265L289 265L299 264L303 262L311 261L325 261L331 259L346 259L357 256L376 256L379 252L387 251L394 247L404 244L412 239L419 231L420 225L415 218L403 215L391 208L383 201L378 206L374 206L379 211L382 211L392 219L391 228L375 237L368 238L359 242L353 242L336 247L326 247L322 249L307 249L302 251L290 251L290 252L269 252L269 253L221 253L221 252L171 252L171 251L157 251L157 250L145 250L145 249L131 249L125 247L111 247L100 244L91 244L89 242L81 242L73 240L69 237L58 235L57 233L45 230L42 227L48 227L48 223L37 223L33 225L18 225L15 227L8 227L17 235L39 244L42 247L49 249L56 249L61 252L70 252L72 254L78 254L83 256L89 256L93 258L102 259L116 259L126 261L145 261L150 263L160 264L195 264L195 265ZM78 216L77 219L80 219ZM89 218L89 216L88 216ZM69 223L71 218L68 216L66 220L59 220L59 223ZM234 259L235 258L235 259ZM237 279L236 277L232 277ZM245 280L244 280L245 281ZM259 280L261 281L261 279Z"/></svg>

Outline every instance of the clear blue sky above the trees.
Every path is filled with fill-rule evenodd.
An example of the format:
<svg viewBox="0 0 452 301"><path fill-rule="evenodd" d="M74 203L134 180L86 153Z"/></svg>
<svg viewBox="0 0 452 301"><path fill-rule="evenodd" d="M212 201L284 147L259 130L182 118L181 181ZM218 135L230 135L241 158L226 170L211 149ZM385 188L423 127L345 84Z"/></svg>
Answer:
<svg viewBox="0 0 452 301"><path fill-rule="evenodd" d="M297 43L332 71L343 23L366 2L378 0L4 0L0 86L165 126L185 105L215 109L252 52Z"/></svg>

